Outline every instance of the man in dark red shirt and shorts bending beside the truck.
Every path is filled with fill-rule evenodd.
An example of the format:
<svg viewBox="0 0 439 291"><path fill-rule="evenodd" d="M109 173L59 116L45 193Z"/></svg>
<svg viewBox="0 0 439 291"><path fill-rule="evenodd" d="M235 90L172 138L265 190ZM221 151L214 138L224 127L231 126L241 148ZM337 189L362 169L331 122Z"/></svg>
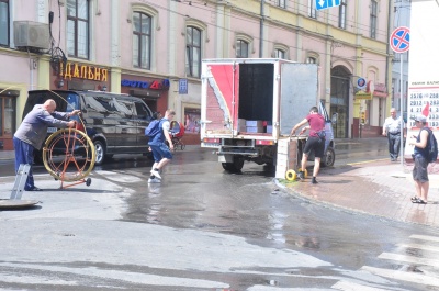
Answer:
<svg viewBox="0 0 439 291"><path fill-rule="evenodd" d="M308 126L302 128L300 134L303 134L306 130L309 130L309 137L306 141L305 147L303 149L302 155L302 168L299 172L297 177L301 181L305 179L305 169L306 163L308 160L308 156L311 150L314 150L314 169L313 169L313 179L312 183L317 183L317 174L320 170L320 160L325 152L325 117L318 113L317 107L312 107L309 110L309 114L300 123L294 125L291 130L291 135L295 134L295 131L308 123Z"/></svg>

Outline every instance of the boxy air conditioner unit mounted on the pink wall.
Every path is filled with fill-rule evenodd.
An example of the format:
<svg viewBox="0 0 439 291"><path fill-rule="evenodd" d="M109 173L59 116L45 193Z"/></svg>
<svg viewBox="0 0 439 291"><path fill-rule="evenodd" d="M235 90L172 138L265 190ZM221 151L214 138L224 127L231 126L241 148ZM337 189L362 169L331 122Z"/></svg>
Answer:
<svg viewBox="0 0 439 291"><path fill-rule="evenodd" d="M48 49L48 24L33 21L14 21L14 42L16 47L30 46Z"/></svg>

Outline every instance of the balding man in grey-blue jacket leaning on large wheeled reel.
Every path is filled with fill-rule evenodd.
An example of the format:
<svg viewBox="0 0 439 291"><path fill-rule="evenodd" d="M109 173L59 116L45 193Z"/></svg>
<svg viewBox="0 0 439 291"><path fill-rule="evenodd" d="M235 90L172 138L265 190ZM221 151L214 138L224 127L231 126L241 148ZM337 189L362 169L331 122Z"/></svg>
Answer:
<svg viewBox="0 0 439 291"><path fill-rule="evenodd" d="M18 172L20 164L27 164L31 166L26 183L24 184L25 191L42 191L42 189L34 184L32 165L34 163L34 150L42 147L47 136L47 127L74 127L76 122L67 120L80 113L80 110L57 112L55 109L56 103L53 99L48 99L44 104L36 104L24 117L13 136L15 172Z"/></svg>

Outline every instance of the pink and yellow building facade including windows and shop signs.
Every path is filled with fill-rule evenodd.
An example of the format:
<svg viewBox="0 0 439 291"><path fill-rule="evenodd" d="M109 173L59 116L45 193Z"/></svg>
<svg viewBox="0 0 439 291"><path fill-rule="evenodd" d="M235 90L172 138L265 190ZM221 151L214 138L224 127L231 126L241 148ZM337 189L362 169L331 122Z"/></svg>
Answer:
<svg viewBox="0 0 439 291"><path fill-rule="evenodd" d="M37 89L140 97L153 111L176 109L199 143L201 59L224 57L317 63L336 137L378 136L392 74L391 2L316 10L315 0L0 0L0 147L10 149L26 92Z"/></svg>

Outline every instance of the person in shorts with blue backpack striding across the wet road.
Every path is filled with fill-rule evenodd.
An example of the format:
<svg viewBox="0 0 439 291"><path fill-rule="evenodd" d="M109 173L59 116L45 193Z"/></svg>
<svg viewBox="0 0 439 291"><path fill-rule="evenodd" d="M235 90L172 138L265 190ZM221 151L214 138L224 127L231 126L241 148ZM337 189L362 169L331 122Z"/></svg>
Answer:
<svg viewBox="0 0 439 291"><path fill-rule="evenodd" d="M150 170L150 177L148 182L161 182L160 171L172 159L172 154L170 150L173 149L173 144L171 136L169 134L170 122L172 121L176 112L168 109L165 112L165 117L160 120L159 128L160 131L149 141L148 145L153 150L154 165ZM169 147L165 144L165 139L168 141Z"/></svg>

